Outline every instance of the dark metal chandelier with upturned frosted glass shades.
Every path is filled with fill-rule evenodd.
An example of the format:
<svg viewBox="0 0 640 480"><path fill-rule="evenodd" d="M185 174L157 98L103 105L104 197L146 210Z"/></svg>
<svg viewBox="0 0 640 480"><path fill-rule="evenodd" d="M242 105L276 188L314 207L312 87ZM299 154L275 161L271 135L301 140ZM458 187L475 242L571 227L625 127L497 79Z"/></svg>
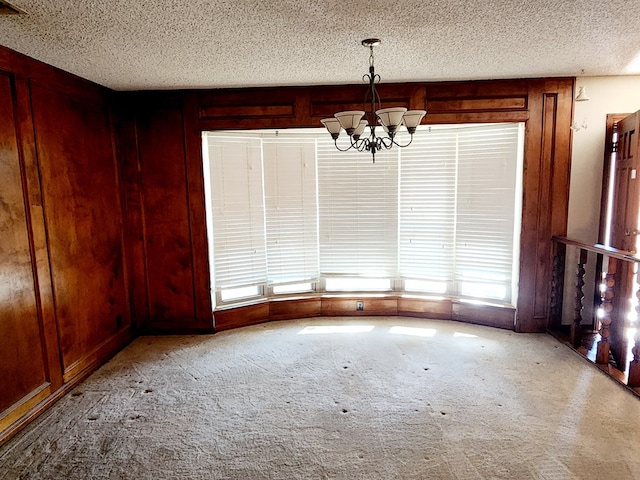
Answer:
<svg viewBox="0 0 640 480"><path fill-rule="evenodd" d="M367 38L362 40L362 45L369 47L369 74L362 76L364 82L369 83L369 88L364 97L364 111L349 110L336 113L333 118L320 120L327 128L333 138L333 142L338 150L346 152L352 148L359 152L371 152L373 161L376 161L376 152L382 149L388 150L394 145L397 147L408 147L413 141L413 134L416 131L426 110L407 110L404 107L382 108L380 95L376 90L376 83L380 82L380 75L375 73L373 66L373 47L380 45L377 38ZM367 110L367 107L369 108ZM364 118L363 118L364 117ZM409 142L402 145L396 140L396 134L400 127L404 125L411 135ZM362 136L366 127L369 127L369 135ZM376 135L376 127L381 127L385 136ZM349 135L349 145L341 148L338 145L340 132L345 130Z"/></svg>

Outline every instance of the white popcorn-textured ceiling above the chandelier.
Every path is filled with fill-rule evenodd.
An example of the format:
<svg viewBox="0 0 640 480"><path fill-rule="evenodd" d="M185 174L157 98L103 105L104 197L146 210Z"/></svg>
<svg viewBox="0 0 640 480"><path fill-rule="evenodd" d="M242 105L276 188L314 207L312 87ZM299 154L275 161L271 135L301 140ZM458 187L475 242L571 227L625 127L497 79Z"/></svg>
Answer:
<svg viewBox="0 0 640 480"><path fill-rule="evenodd" d="M117 90L640 74L640 0L10 0L0 45ZM584 73L581 73L584 70Z"/></svg>

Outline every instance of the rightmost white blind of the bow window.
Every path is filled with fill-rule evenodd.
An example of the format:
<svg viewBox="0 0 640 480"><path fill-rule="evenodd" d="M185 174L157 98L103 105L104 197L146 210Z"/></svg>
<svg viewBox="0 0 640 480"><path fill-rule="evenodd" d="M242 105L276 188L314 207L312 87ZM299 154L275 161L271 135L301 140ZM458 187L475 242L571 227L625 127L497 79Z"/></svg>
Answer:
<svg viewBox="0 0 640 480"><path fill-rule="evenodd" d="M456 280L462 295L510 299L518 134L517 123L458 133Z"/></svg>

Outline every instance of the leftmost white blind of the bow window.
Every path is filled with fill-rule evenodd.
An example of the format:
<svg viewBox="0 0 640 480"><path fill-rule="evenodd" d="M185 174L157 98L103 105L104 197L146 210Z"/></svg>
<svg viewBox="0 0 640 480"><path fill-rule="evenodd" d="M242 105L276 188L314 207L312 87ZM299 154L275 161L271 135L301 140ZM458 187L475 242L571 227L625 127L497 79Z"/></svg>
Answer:
<svg viewBox="0 0 640 480"><path fill-rule="evenodd" d="M259 138L209 135L216 291L266 283Z"/></svg>

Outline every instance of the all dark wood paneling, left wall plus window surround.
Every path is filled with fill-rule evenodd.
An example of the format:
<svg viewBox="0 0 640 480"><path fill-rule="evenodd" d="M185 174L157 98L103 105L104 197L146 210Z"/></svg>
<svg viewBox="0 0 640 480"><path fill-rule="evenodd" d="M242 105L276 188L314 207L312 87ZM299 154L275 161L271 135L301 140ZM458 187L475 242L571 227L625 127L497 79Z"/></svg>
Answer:
<svg viewBox="0 0 640 480"><path fill-rule="evenodd" d="M526 122L517 331L547 324L573 88L569 78L380 86L385 104L426 108L426 123ZM112 92L0 47L0 443L137 332L213 331L203 130L317 127L359 108L363 92ZM321 305L297 303L301 316ZM394 308L429 313L405 303ZM256 306L254 319L288 318L295 305Z"/></svg>

